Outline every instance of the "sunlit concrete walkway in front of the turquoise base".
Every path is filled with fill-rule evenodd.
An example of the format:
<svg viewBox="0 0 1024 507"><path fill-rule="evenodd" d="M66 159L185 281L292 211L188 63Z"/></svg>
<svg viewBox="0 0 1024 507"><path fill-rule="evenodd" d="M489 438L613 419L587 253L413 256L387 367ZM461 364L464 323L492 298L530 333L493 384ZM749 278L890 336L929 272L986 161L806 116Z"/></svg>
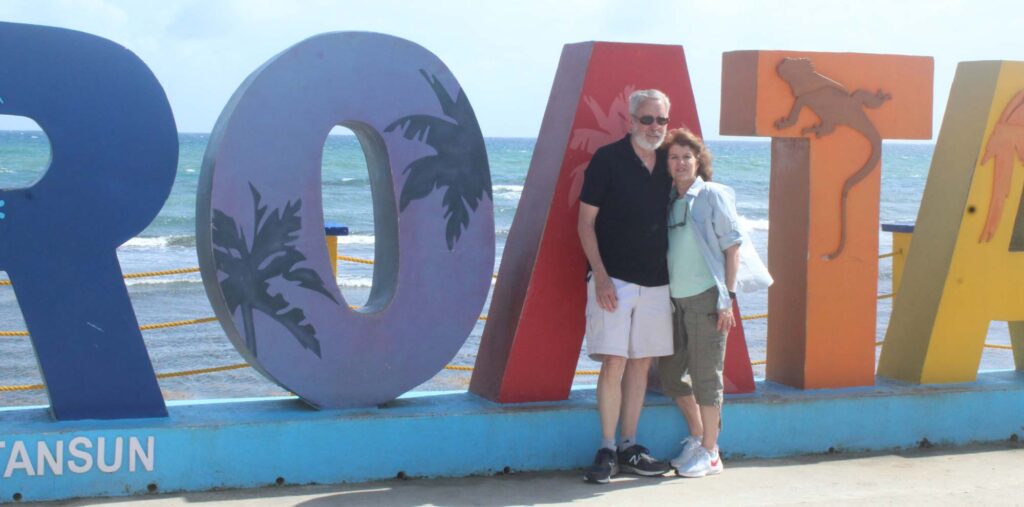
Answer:
<svg viewBox="0 0 1024 507"><path fill-rule="evenodd" d="M586 484L581 473L388 480L348 485L283 487L145 498L92 499L55 505L1024 505L1024 446L1006 442L896 454L804 456L726 462L702 479L620 476ZM49 504L54 505L54 504ZM700 505L700 504L694 504Z"/></svg>

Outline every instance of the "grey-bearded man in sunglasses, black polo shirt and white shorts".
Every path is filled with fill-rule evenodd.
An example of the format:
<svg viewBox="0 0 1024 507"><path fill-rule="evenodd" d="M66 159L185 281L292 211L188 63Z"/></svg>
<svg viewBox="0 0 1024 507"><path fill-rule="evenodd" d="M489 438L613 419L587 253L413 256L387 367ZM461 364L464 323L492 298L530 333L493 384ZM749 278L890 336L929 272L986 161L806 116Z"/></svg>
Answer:
<svg viewBox="0 0 1024 507"><path fill-rule="evenodd" d="M630 95L630 133L594 154L580 195L578 229L591 269L587 353L601 363L601 448L588 482L605 483L620 470L652 476L670 468L636 441L651 360L673 353L666 260L672 177L657 151L669 105L658 90Z"/></svg>

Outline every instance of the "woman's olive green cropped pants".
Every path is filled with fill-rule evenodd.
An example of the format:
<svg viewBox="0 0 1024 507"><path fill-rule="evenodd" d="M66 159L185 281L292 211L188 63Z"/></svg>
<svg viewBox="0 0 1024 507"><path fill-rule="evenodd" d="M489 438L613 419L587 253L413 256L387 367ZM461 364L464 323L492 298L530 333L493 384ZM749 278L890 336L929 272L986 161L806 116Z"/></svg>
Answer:
<svg viewBox="0 0 1024 507"><path fill-rule="evenodd" d="M693 394L697 405L721 407L726 335L718 332L718 289L673 298L672 304L676 353L657 362L662 390L669 397Z"/></svg>

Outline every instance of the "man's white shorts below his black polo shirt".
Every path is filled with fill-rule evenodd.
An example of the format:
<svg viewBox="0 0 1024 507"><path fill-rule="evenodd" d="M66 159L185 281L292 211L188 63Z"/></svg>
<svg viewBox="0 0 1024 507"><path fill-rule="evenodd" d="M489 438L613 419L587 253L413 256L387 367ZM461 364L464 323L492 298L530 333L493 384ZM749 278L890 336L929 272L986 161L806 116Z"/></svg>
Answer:
<svg viewBox="0 0 1024 507"><path fill-rule="evenodd" d="M606 311L597 304L594 280L587 283L587 354L631 360L672 355L672 298L669 286L642 287L622 280L615 284L618 305Z"/></svg>

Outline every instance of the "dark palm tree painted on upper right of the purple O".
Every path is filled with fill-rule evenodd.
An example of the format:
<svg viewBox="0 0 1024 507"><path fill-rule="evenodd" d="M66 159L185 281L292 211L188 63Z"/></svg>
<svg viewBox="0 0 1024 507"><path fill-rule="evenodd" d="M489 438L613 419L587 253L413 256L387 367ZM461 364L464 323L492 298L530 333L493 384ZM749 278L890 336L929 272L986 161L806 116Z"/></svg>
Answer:
<svg viewBox="0 0 1024 507"><path fill-rule="evenodd" d="M436 155L417 159L406 167L409 173L398 200L399 211L404 211L413 201L430 195L434 188L445 187L442 203L447 226L444 239L449 250L455 248L463 229L469 227L472 211L490 189L490 172L487 170L487 152L480 136L480 127L473 115L473 108L463 90L453 99L437 80L437 76L420 75L434 90L437 101L449 121L430 115L410 115L391 122L384 131L402 131L407 139L416 139L433 147Z"/></svg>

